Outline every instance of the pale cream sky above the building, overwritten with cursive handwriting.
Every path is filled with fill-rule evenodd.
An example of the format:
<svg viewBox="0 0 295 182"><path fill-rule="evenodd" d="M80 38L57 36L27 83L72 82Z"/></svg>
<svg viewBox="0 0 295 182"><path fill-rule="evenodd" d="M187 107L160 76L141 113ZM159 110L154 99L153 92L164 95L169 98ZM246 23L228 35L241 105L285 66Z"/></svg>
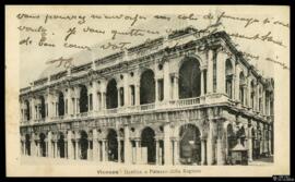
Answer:
<svg viewBox="0 0 295 182"><path fill-rule="evenodd" d="M266 76L274 76L275 69L283 69L279 63L284 63L288 66L288 59L286 54L290 52L288 24L287 9L257 9L253 7L246 8L228 8L228 7L162 7L161 9L155 7L146 7L144 9L137 7L123 7L120 9L107 8L91 8L79 9L74 11L72 9L52 9L50 13L44 13L42 10L31 9L24 11L27 14L38 14L39 19L19 19L19 26L38 28L42 26L46 28L46 41L54 43L56 47L38 46L37 43L42 38L40 33L30 31L19 31L20 39L24 40L30 37L31 45L19 45L20 53L20 87L26 87L31 82L40 78L40 75L46 75L48 66L47 61L62 58L76 58L73 60L74 65L83 62L91 62L104 56L116 52L117 50L103 50L99 48L104 44L116 43L130 43L128 47L135 46L143 43L146 38L153 39L166 34L167 31L180 29L187 26L193 26L197 29L202 29L211 24L214 24L217 19L222 23L219 26L219 31L225 31L229 35L239 34L248 37L252 37L259 34L269 36L264 40L260 39L245 39L232 36L232 40L236 44L236 48L240 51L259 56L259 59L251 59L249 63L253 64L261 74ZM209 13L212 19L208 19ZM59 14L59 15L85 15L85 22L83 19L62 21L47 19L45 23L46 14ZM105 19L91 19L91 14L95 15L120 15L123 14L123 19L106 20ZM135 22L131 17L144 16L145 19L138 19ZM170 20L160 20L155 15L162 15L169 17ZM222 16L223 14L223 16ZM186 19L186 20L184 20ZM246 20L247 19L247 20ZM81 21L79 23L79 21ZM133 23L133 25L132 25ZM248 23L248 25L247 25ZM69 28L75 27L75 34L68 37L67 43L72 43L81 46L92 47L92 51L81 50L76 48L64 48L64 38L69 33ZM85 33L83 29L93 28L105 32L99 33ZM149 29L151 32L158 32L158 34L145 33L144 36L123 36L117 35L116 39L111 39L113 31L128 32L132 28ZM273 41L281 41L283 46L279 46ZM267 58L271 58L275 61L268 61ZM58 68L51 65L54 71L58 71ZM47 70L47 71L46 71Z"/></svg>

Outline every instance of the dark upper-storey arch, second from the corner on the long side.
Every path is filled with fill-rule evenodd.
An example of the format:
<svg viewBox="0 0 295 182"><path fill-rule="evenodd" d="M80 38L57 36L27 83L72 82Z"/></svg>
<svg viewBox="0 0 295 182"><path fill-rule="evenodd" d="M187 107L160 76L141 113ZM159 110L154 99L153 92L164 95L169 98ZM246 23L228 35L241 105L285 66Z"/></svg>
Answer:
<svg viewBox="0 0 295 182"><path fill-rule="evenodd" d="M140 77L140 104L155 102L155 75L152 70L146 70Z"/></svg>

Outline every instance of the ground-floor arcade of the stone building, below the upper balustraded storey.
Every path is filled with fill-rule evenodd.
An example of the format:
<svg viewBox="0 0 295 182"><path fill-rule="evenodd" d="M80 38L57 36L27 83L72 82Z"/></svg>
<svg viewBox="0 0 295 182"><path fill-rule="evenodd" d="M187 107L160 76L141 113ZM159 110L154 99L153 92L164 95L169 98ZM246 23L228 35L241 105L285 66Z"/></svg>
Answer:
<svg viewBox="0 0 295 182"><path fill-rule="evenodd" d="M35 132L26 128L21 130L21 150L26 156L134 165L234 165L231 149L237 144L247 149L249 161L273 154L267 122L181 118L129 123L117 118L115 125L85 121L73 129L39 126Z"/></svg>

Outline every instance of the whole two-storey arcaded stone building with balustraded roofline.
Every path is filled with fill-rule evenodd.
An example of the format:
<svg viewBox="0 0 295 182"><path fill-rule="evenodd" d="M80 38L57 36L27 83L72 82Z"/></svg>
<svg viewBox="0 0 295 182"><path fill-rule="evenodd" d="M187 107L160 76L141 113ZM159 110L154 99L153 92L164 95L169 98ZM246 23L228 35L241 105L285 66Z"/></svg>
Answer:
<svg viewBox="0 0 295 182"><path fill-rule="evenodd" d="M188 27L20 90L22 155L127 165L231 165L273 154L272 78L225 32Z"/></svg>

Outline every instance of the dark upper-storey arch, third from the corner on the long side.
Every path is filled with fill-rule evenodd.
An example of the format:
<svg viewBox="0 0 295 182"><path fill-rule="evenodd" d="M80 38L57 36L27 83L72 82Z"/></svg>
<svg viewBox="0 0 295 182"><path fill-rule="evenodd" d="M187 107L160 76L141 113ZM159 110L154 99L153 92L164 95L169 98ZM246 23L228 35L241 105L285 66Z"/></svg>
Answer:
<svg viewBox="0 0 295 182"><path fill-rule="evenodd" d="M108 82L106 93L106 107L107 109L118 107L118 89L115 78Z"/></svg>

